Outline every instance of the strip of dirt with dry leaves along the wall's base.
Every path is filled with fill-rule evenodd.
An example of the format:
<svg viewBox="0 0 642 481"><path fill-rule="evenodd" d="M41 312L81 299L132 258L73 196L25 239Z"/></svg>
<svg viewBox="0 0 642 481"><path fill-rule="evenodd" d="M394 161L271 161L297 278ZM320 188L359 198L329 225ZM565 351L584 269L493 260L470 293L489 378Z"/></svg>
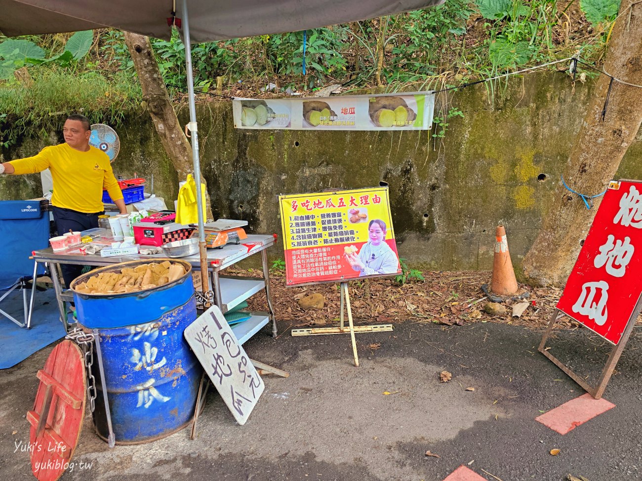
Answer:
<svg viewBox="0 0 642 481"><path fill-rule="evenodd" d="M255 269L228 269L227 272L242 276L261 276ZM469 325L473 323L503 323L530 328L545 328L562 295L557 287L532 288L519 285L517 294L528 293L523 300L507 300L503 305L507 313L492 316L484 311L489 302L482 285L489 284L491 271L476 272L424 272L424 280L410 280L400 284L394 277L351 280L349 284L352 312L356 321L367 323L435 323L438 325ZM281 271L270 273L270 286L274 309L279 320L302 326L334 325L339 321L340 295L338 284L327 283L306 287L286 287ZM318 292L325 297L320 310L304 310L297 301ZM527 302L528 308L521 317L512 317L512 306ZM265 293L250 300L250 308L265 310ZM638 323L642 323L642 316ZM569 317L557 319L555 328L575 329L580 326Z"/></svg>

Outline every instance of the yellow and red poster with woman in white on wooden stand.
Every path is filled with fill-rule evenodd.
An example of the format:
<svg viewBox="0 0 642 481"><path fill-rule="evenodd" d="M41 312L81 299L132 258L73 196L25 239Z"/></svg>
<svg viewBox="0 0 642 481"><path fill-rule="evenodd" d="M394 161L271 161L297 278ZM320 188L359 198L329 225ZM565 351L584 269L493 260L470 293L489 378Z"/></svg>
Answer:
<svg viewBox="0 0 642 481"><path fill-rule="evenodd" d="M401 273L387 187L279 196L286 285Z"/></svg>

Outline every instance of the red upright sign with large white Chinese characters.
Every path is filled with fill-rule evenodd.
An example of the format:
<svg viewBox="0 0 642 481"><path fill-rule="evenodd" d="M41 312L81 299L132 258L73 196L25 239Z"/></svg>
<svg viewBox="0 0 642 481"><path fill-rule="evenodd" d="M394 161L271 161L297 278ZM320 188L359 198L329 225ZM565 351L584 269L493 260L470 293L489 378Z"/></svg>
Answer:
<svg viewBox="0 0 642 481"><path fill-rule="evenodd" d="M557 308L618 344L642 292L642 183L611 181Z"/></svg>

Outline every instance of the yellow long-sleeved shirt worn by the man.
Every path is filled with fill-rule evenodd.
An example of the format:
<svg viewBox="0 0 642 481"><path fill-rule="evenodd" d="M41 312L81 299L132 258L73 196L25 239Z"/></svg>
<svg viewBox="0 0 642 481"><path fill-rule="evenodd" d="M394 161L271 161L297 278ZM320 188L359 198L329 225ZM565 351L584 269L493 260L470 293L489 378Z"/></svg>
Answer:
<svg viewBox="0 0 642 481"><path fill-rule="evenodd" d="M100 149L89 147L81 152L67 144L46 147L38 155L9 162L15 174L34 174L49 169L53 180L51 204L78 212L101 212L103 189L112 201L122 199L123 192L114 178L109 157Z"/></svg>

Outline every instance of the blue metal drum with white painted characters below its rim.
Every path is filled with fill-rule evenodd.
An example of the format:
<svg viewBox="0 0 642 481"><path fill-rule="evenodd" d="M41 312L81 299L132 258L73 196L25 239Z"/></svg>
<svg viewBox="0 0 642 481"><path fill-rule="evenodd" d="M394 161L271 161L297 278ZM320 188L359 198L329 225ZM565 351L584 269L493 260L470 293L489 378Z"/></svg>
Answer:
<svg viewBox="0 0 642 481"><path fill-rule="evenodd" d="M136 260L96 269L76 278L71 289L97 274L148 262ZM116 444L154 441L189 425L194 416L203 371L183 336L196 319L194 285L189 262L171 262L184 266L187 272L160 287L109 295L74 291L78 323L98 329L103 354L104 386L94 348L92 374L98 394L94 424L98 435L107 439L106 391Z"/></svg>

